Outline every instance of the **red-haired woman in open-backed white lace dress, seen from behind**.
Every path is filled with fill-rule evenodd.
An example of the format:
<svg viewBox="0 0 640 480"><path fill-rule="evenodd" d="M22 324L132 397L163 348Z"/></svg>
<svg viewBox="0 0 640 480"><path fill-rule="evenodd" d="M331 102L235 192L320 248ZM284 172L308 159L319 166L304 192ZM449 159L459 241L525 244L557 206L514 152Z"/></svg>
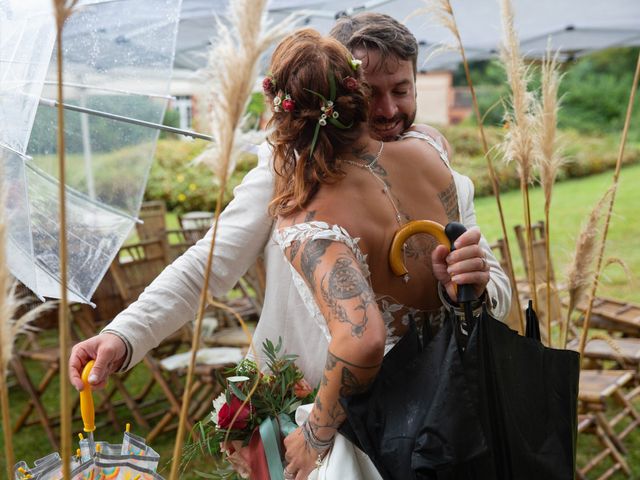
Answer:
<svg viewBox="0 0 640 480"><path fill-rule="evenodd" d="M304 29L278 45L263 83L273 110L274 240L328 340L326 358L315 359L321 378L315 403L285 439L287 479L305 479L349 448L360 471L353 478L377 477L362 452L337 434L345 420L339 398L371 384L409 316L436 329L447 292L453 296L456 272L447 272L446 263L434 272L432 255L446 252L430 237L414 236L405 245L408 281L391 272L388 252L394 233L410 220L460 220L459 174L428 127L414 126L396 142L371 136L371 92L359 67L339 42ZM477 244L480 233L470 235ZM486 284L484 254L467 261L486 273ZM309 328L305 321L296 328ZM305 345L292 353L304 357Z"/></svg>

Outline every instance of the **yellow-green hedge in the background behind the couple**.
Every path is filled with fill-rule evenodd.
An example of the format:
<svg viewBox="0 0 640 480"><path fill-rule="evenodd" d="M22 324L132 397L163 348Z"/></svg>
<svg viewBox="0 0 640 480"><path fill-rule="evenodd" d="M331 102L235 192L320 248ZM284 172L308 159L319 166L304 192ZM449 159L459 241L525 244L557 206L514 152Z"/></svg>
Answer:
<svg viewBox="0 0 640 480"><path fill-rule="evenodd" d="M451 144L454 154L452 166L471 177L476 187L476 196L492 194L487 163L482 153L478 131L473 126L451 126L441 128ZM487 141L495 146L502 138L500 128L486 128ZM562 167L558 180L582 177L599 173L615 166L619 136L612 134L581 135L574 130L561 132L565 145L567 163ZM186 212L192 210L213 211L218 195L218 185L211 171L204 165L193 165L195 158L205 147L204 141L186 142L161 139L156 149L156 160L151 168L145 198L164 200L169 210ZM624 155L624 164L640 161L640 142L629 142ZM225 205L233 197L233 188L244 175L256 165L253 154L245 154L231 177L225 192ZM515 165L507 165L493 150L493 166L498 175L501 191L519 187Z"/></svg>

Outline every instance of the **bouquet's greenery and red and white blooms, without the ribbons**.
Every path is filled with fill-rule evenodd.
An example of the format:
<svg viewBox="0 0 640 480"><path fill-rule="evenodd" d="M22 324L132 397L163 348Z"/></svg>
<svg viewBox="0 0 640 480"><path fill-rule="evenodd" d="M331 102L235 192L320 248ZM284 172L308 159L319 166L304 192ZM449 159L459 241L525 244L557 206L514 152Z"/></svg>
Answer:
<svg viewBox="0 0 640 480"><path fill-rule="evenodd" d="M244 359L218 375L222 393L213 400L211 414L195 425L192 442L184 449L183 470L196 458L209 457L214 471L196 472L198 475L218 480L239 478L222 447L237 441L247 446L263 421L277 418L293 423L296 409L313 402L317 388L311 388L296 366L298 356L281 350L282 338L278 338L277 345L265 340L262 351L266 369Z"/></svg>

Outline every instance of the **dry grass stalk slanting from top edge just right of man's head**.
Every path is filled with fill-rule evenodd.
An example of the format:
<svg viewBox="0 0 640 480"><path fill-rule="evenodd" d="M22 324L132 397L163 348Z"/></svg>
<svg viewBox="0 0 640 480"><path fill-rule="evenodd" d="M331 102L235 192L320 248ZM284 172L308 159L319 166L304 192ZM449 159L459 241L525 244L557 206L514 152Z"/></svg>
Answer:
<svg viewBox="0 0 640 480"><path fill-rule="evenodd" d="M473 86L473 80L471 79L471 72L469 70L469 62L467 61L467 56L464 50L464 45L462 43L462 38L460 37L460 30L458 29L458 23L456 22L455 15L453 13L453 8L451 7L451 2L449 0L423 0L426 4L424 7L416 10L412 15L415 16L419 14L425 14L434 18L436 22L442 25L444 28L449 30L451 34L455 37L457 48L456 50L460 53L462 57L462 64L464 66L465 76L467 79L467 85L469 86L469 90L471 92L471 100L473 103L473 111L476 116L476 121L478 122L478 129L480 132L480 140L482 142L482 149L484 151L484 156L487 159L487 168L489 169L489 178L491 178L491 186L493 187L493 195L496 198L496 204L498 206L498 215L500 217L500 226L502 227L502 238L505 242L505 257L507 260L507 266L509 271L507 274L509 275L509 279L511 282L511 290L512 290L512 298L515 299L518 309L518 315L520 319L520 333L524 333L524 313L522 307L520 305L520 295L518 293L518 285L515 281L515 273L513 271L513 262L511 259L511 247L509 245L509 235L507 234L507 226L504 220L504 213L502 211L502 202L500 200L500 186L498 184L498 176L496 175L495 169L493 168L493 162L491 160L491 155L489 152L489 146L487 143L487 138L484 132L484 119L480 115L480 107L478 105L478 98L476 96L476 91ZM434 52L435 53L435 52Z"/></svg>

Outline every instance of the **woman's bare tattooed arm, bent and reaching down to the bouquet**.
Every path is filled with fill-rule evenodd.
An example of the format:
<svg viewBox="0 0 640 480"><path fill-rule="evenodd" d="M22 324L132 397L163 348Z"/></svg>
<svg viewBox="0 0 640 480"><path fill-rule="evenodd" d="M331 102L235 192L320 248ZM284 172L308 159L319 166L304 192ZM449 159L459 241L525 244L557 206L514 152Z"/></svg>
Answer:
<svg viewBox="0 0 640 480"><path fill-rule="evenodd" d="M339 398L366 390L380 369L386 329L369 280L349 247L317 239L292 249L295 254L292 258L288 252L288 257L331 333L320 389L307 420L313 435L325 441L345 419Z"/></svg>

